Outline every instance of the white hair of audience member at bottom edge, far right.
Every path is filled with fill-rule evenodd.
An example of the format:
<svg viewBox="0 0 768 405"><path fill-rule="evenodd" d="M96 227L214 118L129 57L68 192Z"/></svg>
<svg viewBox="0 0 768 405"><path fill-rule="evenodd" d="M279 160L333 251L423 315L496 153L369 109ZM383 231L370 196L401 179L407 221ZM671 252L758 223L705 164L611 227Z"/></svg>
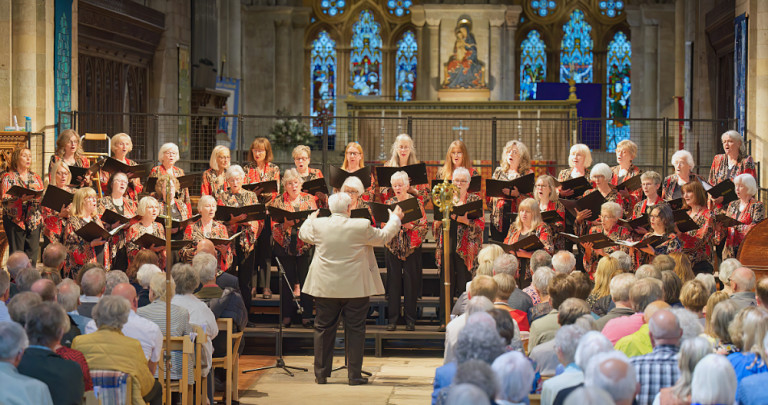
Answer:
<svg viewBox="0 0 768 405"><path fill-rule="evenodd" d="M704 356L693 370L691 403L732 404L736 398L736 372L720 354Z"/></svg>

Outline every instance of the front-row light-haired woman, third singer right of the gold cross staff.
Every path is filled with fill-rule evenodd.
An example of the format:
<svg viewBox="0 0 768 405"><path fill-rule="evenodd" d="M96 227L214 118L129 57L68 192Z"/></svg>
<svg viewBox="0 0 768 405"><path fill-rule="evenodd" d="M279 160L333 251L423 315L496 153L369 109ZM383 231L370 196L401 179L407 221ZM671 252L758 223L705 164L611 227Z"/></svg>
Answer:
<svg viewBox="0 0 768 405"><path fill-rule="evenodd" d="M595 165L597 166L597 165ZM592 173L594 174L594 170ZM583 212L583 211L582 211ZM602 233L611 240L615 241L629 241L632 234L629 230L619 225L619 219L623 214L623 210L618 203L608 201L603 203L600 207L600 221L595 221L594 225L589 228L589 234ZM582 228L583 229L583 228ZM621 245L609 246L602 249L594 249L592 243L586 242L581 244L584 247L584 270L590 274L594 274L597 269L597 262L603 256L609 256L611 253L621 250L626 253L627 248Z"/></svg>

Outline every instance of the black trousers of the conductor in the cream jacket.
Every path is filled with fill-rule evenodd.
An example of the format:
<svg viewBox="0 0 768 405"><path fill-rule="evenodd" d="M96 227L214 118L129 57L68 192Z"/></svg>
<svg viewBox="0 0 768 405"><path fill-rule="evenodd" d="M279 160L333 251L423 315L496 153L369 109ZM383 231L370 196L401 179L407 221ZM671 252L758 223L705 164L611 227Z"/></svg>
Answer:
<svg viewBox="0 0 768 405"><path fill-rule="evenodd" d="M330 377L333 369L333 348L339 319L344 320L347 338L347 375L361 378L363 350L365 349L365 318L369 297L322 298L315 297L315 377Z"/></svg>

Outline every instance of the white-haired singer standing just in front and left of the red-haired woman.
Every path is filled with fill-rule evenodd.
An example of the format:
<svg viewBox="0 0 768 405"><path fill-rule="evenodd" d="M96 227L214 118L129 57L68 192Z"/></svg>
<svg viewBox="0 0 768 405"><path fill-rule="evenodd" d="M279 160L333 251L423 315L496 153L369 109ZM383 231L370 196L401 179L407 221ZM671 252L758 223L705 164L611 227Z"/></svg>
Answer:
<svg viewBox="0 0 768 405"><path fill-rule="evenodd" d="M229 188L219 193L219 205L227 207L244 207L259 203L259 197L252 191L243 188L245 171L239 165L229 166L225 174ZM259 239L259 233L264 227L264 221L240 222L245 217L241 214L229 220L228 231L230 235L241 232L235 245L232 270L237 267L237 279L240 283L240 294L247 309L251 308L251 278L253 268L256 266L256 254L254 248ZM266 275L265 275L266 278ZM266 285L266 280L262 285Z"/></svg>

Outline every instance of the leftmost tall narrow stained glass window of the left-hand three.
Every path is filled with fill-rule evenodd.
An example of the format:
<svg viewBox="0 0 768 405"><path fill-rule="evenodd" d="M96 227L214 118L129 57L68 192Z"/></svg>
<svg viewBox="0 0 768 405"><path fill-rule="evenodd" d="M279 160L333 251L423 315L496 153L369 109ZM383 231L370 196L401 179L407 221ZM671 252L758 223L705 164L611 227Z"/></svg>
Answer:
<svg viewBox="0 0 768 405"><path fill-rule="evenodd" d="M311 55L312 74L312 133L321 135L322 117L336 115L336 42L325 31L320 31L317 39L312 41ZM333 121L329 134L335 134L336 125Z"/></svg>

